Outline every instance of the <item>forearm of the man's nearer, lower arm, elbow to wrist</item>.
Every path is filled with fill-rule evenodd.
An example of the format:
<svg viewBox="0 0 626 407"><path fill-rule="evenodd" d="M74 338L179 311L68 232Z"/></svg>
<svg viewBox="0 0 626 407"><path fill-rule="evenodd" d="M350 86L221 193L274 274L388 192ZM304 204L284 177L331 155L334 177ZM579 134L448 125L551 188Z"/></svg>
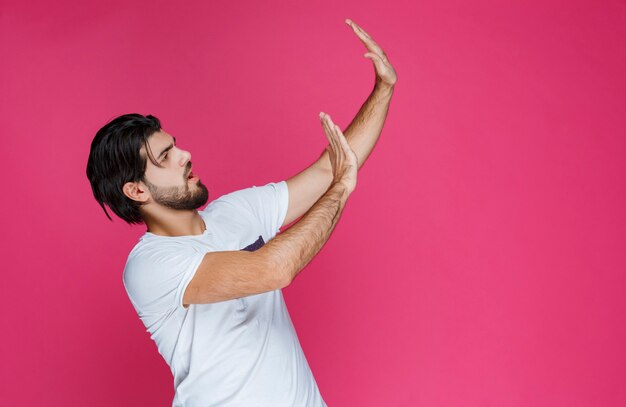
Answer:
<svg viewBox="0 0 626 407"><path fill-rule="evenodd" d="M330 237L348 199L346 187L334 183L324 195L286 231L278 234L259 251L270 258L283 286L313 259Z"/></svg>

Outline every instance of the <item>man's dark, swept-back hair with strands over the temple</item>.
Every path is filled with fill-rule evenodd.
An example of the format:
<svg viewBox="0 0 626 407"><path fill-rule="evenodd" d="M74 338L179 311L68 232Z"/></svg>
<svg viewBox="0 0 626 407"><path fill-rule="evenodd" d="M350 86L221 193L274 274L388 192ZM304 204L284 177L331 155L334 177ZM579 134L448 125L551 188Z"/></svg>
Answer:
<svg viewBox="0 0 626 407"><path fill-rule="evenodd" d="M131 113L116 117L96 133L89 151L87 178L109 220L113 221L105 204L129 224L144 223L139 212L142 203L124 195L122 188L127 182L145 181L147 160L141 153L142 146L150 161L161 167L148 145L148 138L159 130L161 122L156 117Z"/></svg>

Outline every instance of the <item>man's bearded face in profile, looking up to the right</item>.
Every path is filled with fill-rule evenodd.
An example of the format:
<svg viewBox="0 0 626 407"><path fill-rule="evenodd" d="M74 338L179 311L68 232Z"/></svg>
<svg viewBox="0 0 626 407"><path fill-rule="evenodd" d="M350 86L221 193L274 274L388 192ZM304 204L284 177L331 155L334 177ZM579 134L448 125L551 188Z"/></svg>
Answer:
<svg viewBox="0 0 626 407"><path fill-rule="evenodd" d="M148 139L159 168L147 160L145 184L155 203L172 209L197 209L209 199L209 191L191 172L191 153L176 146L176 139L161 129ZM146 153L143 151L142 153ZM190 174L193 177L190 177Z"/></svg>

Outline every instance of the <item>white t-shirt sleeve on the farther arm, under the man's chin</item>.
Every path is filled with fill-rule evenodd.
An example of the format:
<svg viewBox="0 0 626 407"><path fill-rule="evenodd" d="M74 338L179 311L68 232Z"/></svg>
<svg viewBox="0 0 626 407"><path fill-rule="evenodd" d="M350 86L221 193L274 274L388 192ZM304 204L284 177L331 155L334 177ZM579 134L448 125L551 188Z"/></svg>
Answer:
<svg viewBox="0 0 626 407"><path fill-rule="evenodd" d="M266 242L280 231L289 207L287 181L255 185L223 195L220 199L230 201L250 213L259 223Z"/></svg>

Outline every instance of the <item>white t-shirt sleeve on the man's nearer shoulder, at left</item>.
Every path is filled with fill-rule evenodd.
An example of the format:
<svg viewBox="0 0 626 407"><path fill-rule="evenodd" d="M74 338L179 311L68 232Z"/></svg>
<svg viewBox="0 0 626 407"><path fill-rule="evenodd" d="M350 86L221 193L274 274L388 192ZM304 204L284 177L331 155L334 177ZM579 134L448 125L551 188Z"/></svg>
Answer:
<svg viewBox="0 0 626 407"><path fill-rule="evenodd" d="M140 314L164 315L183 308L183 296L204 253L181 242L150 242L133 250L124 287Z"/></svg>

